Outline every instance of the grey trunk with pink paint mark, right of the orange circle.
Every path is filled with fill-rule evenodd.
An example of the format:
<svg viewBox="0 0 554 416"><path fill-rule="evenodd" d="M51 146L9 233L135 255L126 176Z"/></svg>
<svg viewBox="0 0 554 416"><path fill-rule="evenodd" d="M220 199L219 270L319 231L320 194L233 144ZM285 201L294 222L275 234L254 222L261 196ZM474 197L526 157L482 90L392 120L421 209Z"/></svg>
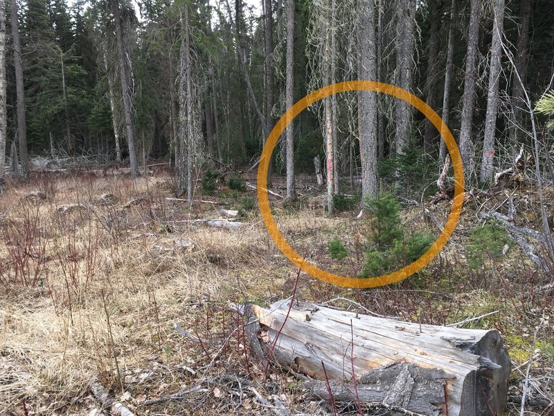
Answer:
<svg viewBox="0 0 554 416"><path fill-rule="evenodd" d="M494 0L494 25L490 52L489 90L487 94L487 116L481 159L481 182L492 180L494 137L497 132L498 88L502 57L502 33L504 22L504 0Z"/></svg>

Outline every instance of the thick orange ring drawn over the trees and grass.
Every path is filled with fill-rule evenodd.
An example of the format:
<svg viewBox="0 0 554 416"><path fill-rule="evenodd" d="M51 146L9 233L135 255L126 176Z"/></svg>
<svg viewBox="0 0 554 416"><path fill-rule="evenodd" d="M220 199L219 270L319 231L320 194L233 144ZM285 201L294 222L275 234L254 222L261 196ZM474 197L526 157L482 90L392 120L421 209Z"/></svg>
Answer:
<svg viewBox="0 0 554 416"><path fill-rule="evenodd" d="M285 240L283 234L280 233L275 218L271 214L271 207L269 206L269 198L267 196L267 171L269 168L269 160L271 159L271 154L274 151L275 145L281 134L287 128L287 125L296 117L300 112L305 110L309 105L320 101L321 99L331 96L332 94L337 94L339 92L349 92L349 91L370 91L370 92L381 92L395 98L400 98L400 100L406 101L416 109L418 109L422 114L424 114L431 123L436 127L438 132L440 132L441 137L446 143L450 157L452 158L452 166L454 166L454 201L452 202L452 209L448 216L447 223L443 229L443 232L440 233L436 241L431 245L429 250L425 252L422 257L415 260L413 263L408 266L396 270L395 272L388 273L387 275L381 275L376 277L346 277L335 275L334 273L322 270L321 268L314 266L312 263L305 261L304 257L298 254L294 248ZM406 279L413 273L421 270L427 264L436 257L436 255L443 250L446 243L452 236L454 228L458 224L458 219L463 206L463 196L464 196L464 175L463 175L463 164L462 158L460 155L460 150L456 145L456 141L452 136L452 132L448 129L448 126L443 123L443 120L438 116L434 110L422 101L420 98L415 95L407 92L406 90L395 87L394 85L378 83L377 81L347 81L344 83L337 83L328 85L321 89L318 89L311 94L308 94L296 104L287 110L287 112L279 119L276 123L271 134L267 138L265 146L262 150L262 156L260 159L260 167L258 168L258 202L260 205L260 211L262 212L262 218L265 223L265 227L269 232L271 238L275 241L277 247L285 256L292 261L296 266L301 268L304 272L317 279L325 281L330 284L336 284L338 286L348 287L348 288L374 288L377 286L384 286L386 284L395 283L402 279Z"/></svg>

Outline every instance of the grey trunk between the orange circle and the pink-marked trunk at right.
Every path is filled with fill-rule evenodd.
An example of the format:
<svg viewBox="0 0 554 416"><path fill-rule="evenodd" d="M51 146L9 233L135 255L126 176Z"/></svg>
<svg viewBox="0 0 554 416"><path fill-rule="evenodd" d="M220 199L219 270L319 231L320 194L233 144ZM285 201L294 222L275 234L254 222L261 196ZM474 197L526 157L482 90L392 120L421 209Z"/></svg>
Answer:
<svg viewBox="0 0 554 416"><path fill-rule="evenodd" d="M470 28L467 33L467 55L462 98L460 128L460 153L464 164L467 182L474 176L474 143L472 139L473 113L475 111L475 80L477 43L479 42L479 20L481 19L481 0L470 1Z"/></svg>

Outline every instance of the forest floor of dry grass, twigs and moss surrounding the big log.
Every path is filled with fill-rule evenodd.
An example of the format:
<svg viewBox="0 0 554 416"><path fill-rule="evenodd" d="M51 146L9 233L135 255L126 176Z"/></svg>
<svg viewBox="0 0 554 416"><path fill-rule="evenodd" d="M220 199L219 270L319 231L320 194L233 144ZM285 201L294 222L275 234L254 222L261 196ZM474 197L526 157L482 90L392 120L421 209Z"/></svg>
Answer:
<svg viewBox="0 0 554 416"><path fill-rule="evenodd" d="M245 179L255 183L255 177ZM283 182L276 178L276 193L283 194ZM299 183L301 203L271 198L279 229L321 268L355 275L364 219L355 219L357 210L326 217L323 189L312 178ZM93 390L102 388L135 415L269 415L274 409L267 402L279 400L292 415L332 414L328 404L305 400L294 374L277 368L265 379L251 374L236 306L289 297L297 269L267 233L255 190L233 191L219 182L209 196L197 185L189 207L175 200L175 180L163 168L134 180L42 174L28 184L5 184L0 414L97 416L102 409ZM296 297L441 325L498 311L465 327L494 328L503 336L512 359L510 414L519 414L532 357L528 397L540 406L527 414L548 415L554 408L551 277L515 244L480 268L466 264L469 236L483 223L476 207L499 209L506 192L467 202L445 250L417 275L355 290L300 273ZM539 229L533 190L514 195L526 225ZM450 203L428 206L438 223L444 224ZM241 227L207 227L202 220L221 218L220 209L239 209ZM425 218L420 207L403 206L406 226L438 235ZM345 241L352 259L330 259L334 236Z"/></svg>

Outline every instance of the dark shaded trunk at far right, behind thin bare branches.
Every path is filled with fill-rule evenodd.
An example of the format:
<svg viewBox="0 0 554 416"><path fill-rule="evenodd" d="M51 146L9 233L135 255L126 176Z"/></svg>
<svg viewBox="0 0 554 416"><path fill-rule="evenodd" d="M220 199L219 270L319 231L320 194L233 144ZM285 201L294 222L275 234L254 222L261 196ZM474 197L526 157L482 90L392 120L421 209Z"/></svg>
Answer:
<svg viewBox="0 0 554 416"><path fill-rule="evenodd" d="M515 53L515 69L519 73L521 82L526 83L527 59L529 43L529 22L531 17L531 3L533 0L521 0L519 3L519 36ZM524 92L521 83L514 74L512 76L512 128L510 129L510 143L519 148L518 132L523 118L521 107L524 107Z"/></svg>

